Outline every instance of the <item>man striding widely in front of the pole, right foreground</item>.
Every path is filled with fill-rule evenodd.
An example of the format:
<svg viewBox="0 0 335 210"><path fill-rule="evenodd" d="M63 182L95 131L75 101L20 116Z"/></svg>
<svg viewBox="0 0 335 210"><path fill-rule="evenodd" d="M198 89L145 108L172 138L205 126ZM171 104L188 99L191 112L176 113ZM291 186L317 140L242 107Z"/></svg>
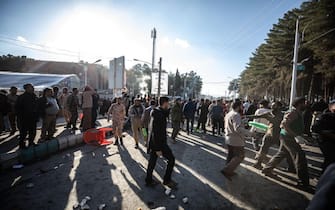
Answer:
<svg viewBox="0 0 335 210"><path fill-rule="evenodd" d="M304 132L304 119L302 112L305 107L305 98L297 98L293 101L293 107L288 112L281 123L284 130L280 135L280 146L277 154L272 157L269 163L263 169L265 175L272 175L272 170L286 156L284 149L287 149L295 163L295 169L299 178L298 185L304 187L309 186L309 174L307 168L307 159L305 152L301 149L300 144L295 141L295 137L300 136Z"/></svg>

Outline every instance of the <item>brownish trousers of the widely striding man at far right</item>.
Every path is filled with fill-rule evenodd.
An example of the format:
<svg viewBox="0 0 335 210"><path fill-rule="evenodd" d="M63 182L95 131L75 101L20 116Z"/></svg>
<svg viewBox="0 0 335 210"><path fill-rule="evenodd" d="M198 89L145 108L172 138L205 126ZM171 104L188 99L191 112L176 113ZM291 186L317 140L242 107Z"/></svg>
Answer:
<svg viewBox="0 0 335 210"><path fill-rule="evenodd" d="M279 151L272 157L270 162L266 164L265 168L273 169L276 167L286 157L286 149L294 161L298 178L303 184L308 185L309 174L305 152L301 149L300 144L295 141L294 137L281 135L280 138Z"/></svg>

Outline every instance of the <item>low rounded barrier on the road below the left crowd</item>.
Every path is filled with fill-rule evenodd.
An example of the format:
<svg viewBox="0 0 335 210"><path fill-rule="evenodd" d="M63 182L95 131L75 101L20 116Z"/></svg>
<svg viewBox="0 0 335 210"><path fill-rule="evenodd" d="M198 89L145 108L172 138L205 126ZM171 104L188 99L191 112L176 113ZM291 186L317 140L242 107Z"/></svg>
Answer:
<svg viewBox="0 0 335 210"><path fill-rule="evenodd" d="M39 143L35 147L0 154L0 169L4 170L11 168L16 164L28 163L37 159L45 158L59 151L82 144L83 142L83 133L73 134Z"/></svg>

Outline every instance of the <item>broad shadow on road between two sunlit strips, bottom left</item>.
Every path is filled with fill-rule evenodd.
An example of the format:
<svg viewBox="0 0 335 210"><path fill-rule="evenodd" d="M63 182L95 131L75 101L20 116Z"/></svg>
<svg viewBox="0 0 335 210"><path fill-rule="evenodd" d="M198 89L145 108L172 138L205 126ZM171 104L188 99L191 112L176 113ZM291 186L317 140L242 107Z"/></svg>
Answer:
<svg viewBox="0 0 335 210"><path fill-rule="evenodd" d="M76 192L72 194L78 202L86 196L91 197L88 202L91 209L97 209L101 204L106 204L108 209L121 209L121 191L112 174L116 167L107 160L114 154L109 154L105 146L85 147L89 152L80 158L74 177Z"/></svg>

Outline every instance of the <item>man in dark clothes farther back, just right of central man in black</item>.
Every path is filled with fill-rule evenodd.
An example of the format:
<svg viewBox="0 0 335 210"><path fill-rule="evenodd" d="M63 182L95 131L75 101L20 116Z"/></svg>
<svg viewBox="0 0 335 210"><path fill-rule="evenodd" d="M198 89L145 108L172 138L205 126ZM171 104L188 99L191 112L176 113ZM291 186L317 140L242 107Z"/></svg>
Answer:
<svg viewBox="0 0 335 210"><path fill-rule="evenodd" d="M182 118L183 118L183 109L181 105L181 98L176 98L175 103L171 109L171 122L173 128L171 138L173 143L176 142Z"/></svg>

